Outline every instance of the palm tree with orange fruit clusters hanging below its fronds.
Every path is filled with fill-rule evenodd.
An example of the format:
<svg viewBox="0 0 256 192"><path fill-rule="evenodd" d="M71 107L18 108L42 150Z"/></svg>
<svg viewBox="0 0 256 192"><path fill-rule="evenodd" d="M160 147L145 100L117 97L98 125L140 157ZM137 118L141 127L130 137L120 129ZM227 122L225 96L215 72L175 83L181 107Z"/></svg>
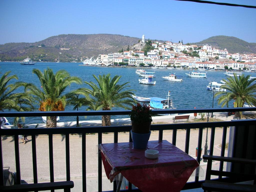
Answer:
<svg viewBox="0 0 256 192"><path fill-rule="evenodd" d="M50 68L45 69L44 73L39 69L33 69L32 72L39 78L41 88L33 83L27 83L25 92L34 96L34 99L39 102L39 111L64 111L67 99L80 94L77 90L64 94L71 83L82 83L80 78L71 77L66 70L59 70L55 74ZM56 127L56 116L47 117L46 126Z"/></svg>

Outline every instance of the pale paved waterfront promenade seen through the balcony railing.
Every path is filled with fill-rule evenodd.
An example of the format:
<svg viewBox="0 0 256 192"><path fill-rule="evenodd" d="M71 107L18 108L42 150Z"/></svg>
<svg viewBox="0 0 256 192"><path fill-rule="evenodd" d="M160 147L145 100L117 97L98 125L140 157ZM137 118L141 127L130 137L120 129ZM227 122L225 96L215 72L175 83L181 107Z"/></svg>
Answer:
<svg viewBox="0 0 256 192"><path fill-rule="evenodd" d="M234 115L227 116L227 113L215 113L216 118L222 121L230 121L234 119ZM153 123L157 122L166 122L173 123L172 117L170 116L157 116L153 117ZM214 116L215 117L215 116ZM200 118L200 116L197 116ZM193 122L194 114L190 114L190 122ZM184 122L184 121L183 121ZM82 126L86 125L101 125L101 121L85 121L80 122ZM112 125L123 125L130 124L130 119L119 119L112 120ZM34 127L34 125L29 125ZM39 127L44 127L45 124L39 124ZM58 127L61 126L76 126L76 122L60 122ZM185 128L185 127L184 127ZM210 132L208 130L208 146L210 145ZM185 136L186 131L177 131L177 141L176 146L181 150L185 150ZM227 138L229 137L229 129L227 132ZM206 129L203 131L203 140L202 148L204 152L205 138L206 138ZM20 150L20 167L21 167L21 178L26 182L33 182L33 169L32 169L32 150L31 150L31 137L28 136L29 142L25 145L20 141L19 150ZM169 142L172 142L172 131L164 131L163 139ZM152 132L150 140L158 140L158 132ZM214 144L214 155L220 155L220 144L222 140L222 129L216 128L215 132L215 144ZM118 142L128 142L129 134L119 133ZM198 130L191 130L190 132L190 143L189 143L189 155L196 158L195 151L198 141ZM228 140L227 140L228 141ZM112 143L114 142L114 136L112 133L103 134L102 143ZM37 169L38 169L38 180L39 182L49 181L49 147L48 147L48 136L39 135L36 139L36 150L37 150ZM87 177L87 190L88 191L97 191L98 188L98 135L87 135L86 136L86 177ZM4 166L10 166L11 171L15 171L15 153L14 153L14 140L12 137L3 137L3 162ZM71 180L75 183L75 188L73 191L80 191L81 189L81 176L82 176L82 152L81 147L82 139L79 135L70 135L70 172ZM54 150L54 176L55 180L65 180L66 178L66 162L65 162L65 136L54 135L53 136L53 150ZM208 147L209 150L209 147ZM227 155L227 151L225 152ZM202 169L206 169L206 163L202 160L200 162ZM218 168L218 163L216 169ZM204 173L205 175L205 173ZM111 190L112 184L107 180L104 168L102 169L102 187L103 190ZM190 178L192 181L194 177ZM204 176L200 177L199 180L204 180ZM79 189L80 188L80 189Z"/></svg>

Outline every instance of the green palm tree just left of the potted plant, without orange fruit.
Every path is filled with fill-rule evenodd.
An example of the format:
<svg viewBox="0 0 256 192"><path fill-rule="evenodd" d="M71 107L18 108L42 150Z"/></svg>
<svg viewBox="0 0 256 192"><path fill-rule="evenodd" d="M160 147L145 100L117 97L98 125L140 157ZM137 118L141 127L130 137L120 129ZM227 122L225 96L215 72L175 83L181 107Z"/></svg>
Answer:
<svg viewBox="0 0 256 192"><path fill-rule="evenodd" d="M121 76L114 76L112 79L110 74L99 76L99 79L93 75L98 85L93 82L87 82L91 89L83 88L84 93L92 96L91 104L88 110L111 110L112 107L121 107L131 109L135 102L132 98L131 89L126 90L127 83L117 84ZM99 86L99 87L98 87ZM110 115L102 115L102 126L111 126Z"/></svg>

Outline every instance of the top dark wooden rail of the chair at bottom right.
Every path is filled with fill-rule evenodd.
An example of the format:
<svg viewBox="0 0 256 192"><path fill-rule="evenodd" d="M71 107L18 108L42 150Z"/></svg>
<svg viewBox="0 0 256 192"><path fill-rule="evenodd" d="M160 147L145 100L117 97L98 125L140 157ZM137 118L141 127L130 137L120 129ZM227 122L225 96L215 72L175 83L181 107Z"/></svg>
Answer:
<svg viewBox="0 0 256 192"><path fill-rule="evenodd" d="M236 157L221 157L215 155L203 155L203 159L214 160L214 161L224 161L231 163L246 163L246 164L256 164L256 160L254 159L243 159Z"/></svg>

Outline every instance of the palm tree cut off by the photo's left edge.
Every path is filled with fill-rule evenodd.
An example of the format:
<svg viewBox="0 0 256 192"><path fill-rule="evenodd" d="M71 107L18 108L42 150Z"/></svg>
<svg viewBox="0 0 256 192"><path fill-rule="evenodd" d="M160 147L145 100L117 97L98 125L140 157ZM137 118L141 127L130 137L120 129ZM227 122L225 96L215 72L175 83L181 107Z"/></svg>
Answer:
<svg viewBox="0 0 256 192"><path fill-rule="evenodd" d="M0 111L31 111L33 109L32 100L25 93L16 92L23 86L22 82L8 84L10 80L18 79L17 75L8 76L11 71L7 71L0 78Z"/></svg>

